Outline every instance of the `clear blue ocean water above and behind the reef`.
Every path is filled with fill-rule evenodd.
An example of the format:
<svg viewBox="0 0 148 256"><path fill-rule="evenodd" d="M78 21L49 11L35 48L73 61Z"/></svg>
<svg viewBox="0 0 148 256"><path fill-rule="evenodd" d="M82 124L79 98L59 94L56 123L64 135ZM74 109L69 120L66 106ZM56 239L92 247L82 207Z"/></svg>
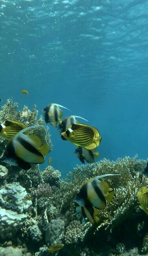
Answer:
<svg viewBox="0 0 148 256"><path fill-rule="evenodd" d="M147 13L146 0L0 0L0 104L61 104L100 130L99 160L147 158ZM48 126L65 177L76 147Z"/></svg>

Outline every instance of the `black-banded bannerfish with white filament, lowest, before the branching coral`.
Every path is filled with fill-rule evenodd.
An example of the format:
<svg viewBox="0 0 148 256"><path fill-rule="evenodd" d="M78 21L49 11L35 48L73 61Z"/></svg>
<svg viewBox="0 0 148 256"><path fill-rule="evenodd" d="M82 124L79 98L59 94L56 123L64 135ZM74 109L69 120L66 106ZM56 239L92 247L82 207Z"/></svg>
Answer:
<svg viewBox="0 0 148 256"><path fill-rule="evenodd" d="M104 174L85 181L77 194L76 203L88 209L88 205L96 209L105 209L106 201L111 202L114 190L109 188L105 181L99 179L107 176L120 176L120 174Z"/></svg>

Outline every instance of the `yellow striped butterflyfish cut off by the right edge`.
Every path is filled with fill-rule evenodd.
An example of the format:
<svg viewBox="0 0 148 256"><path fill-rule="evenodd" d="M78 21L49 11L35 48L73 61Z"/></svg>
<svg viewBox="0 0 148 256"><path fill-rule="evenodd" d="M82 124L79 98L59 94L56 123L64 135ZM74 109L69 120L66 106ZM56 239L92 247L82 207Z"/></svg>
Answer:
<svg viewBox="0 0 148 256"><path fill-rule="evenodd" d="M139 207L148 214L148 188L141 187L137 193L138 200L140 202Z"/></svg>

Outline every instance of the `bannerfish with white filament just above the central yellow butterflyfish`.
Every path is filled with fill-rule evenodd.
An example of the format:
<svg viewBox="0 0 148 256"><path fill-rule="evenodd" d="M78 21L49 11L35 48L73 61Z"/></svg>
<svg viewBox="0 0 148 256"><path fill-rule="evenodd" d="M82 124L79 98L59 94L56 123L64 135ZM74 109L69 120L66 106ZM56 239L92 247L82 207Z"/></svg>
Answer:
<svg viewBox="0 0 148 256"><path fill-rule="evenodd" d="M68 128L70 128L72 126L72 124L78 124L79 122L78 122L78 120L76 120L76 118L81 118L88 122L88 120L86 120L85 118L75 116L75 115L65 117L65 119L63 119L63 120L58 119L58 122L59 122L59 126L57 127L58 132L61 134L62 132L65 132ZM67 140L63 136L61 136L61 139Z"/></svg>

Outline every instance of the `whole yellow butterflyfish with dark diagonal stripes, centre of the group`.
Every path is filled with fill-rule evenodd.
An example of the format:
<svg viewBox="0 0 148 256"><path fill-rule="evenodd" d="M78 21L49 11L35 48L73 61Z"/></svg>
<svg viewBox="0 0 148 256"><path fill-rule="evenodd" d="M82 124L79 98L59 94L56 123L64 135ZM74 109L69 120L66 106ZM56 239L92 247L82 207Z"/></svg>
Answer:
<svg viewBox="0 0 148 256"><path fill-rule="evenodd" d="M70 128L61 133L61 136L71 143L89 150L98 147L102 139L99 137L99 131L87 124L72 124Z"/></svg>

